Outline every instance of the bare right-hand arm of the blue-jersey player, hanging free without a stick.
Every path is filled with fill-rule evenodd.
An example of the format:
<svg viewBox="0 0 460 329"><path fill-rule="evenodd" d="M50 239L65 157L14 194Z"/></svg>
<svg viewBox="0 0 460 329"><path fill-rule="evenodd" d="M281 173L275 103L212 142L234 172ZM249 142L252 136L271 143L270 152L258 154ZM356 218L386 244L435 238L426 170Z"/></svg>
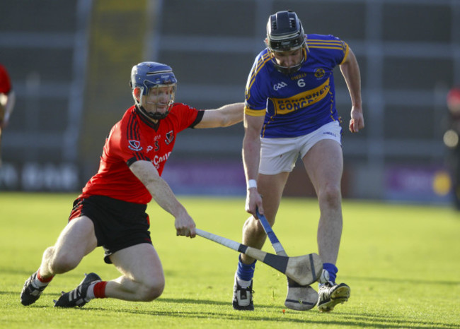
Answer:
<svg viewBox="0 0 460 329"><path fill-rule="evenodd" d="M364 128L361 100L361 73L360 66L351 48L348 49L347 59L345 59L343 64L340 64L340 71L345 78L352 100L350 131L352 133L357 133L360 129Z"/></svg>

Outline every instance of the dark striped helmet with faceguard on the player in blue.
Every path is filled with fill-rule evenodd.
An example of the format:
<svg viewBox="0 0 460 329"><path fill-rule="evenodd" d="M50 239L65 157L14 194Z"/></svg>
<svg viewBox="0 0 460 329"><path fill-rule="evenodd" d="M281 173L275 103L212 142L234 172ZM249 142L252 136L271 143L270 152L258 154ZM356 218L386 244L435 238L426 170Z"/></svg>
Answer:
<svg viewBox="0 0 460 329"><path fill-rule="evenodd" d="M278 71L291 74L299 71L306 59L306 41L304 28L294 11L278 11L268 18L266 44L272 55L272 62ZM277 64L275 52L292 52L301 49L302 59L295 66Z"/></svg>

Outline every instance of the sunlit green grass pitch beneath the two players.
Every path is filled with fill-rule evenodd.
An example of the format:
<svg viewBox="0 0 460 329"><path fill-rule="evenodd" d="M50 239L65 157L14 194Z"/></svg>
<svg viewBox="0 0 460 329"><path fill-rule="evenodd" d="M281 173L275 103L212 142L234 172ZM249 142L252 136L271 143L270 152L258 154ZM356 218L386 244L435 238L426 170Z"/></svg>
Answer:
<svg viewBox="0 0 460 329"><path fill-rule="evenodd" d="M238 253L197 237L176 237L173 218L149 205L151 235L166 273L151 303L96 299L82 309L54 309L62 290L84 273L119 275L98 248L59 275L33 305L19 301L24 281L54 244L76 195L1 193L0 328L460 328L460 214L450 208L344 201L338 280L350 300L332 313L284 307L286 281L268 265L255 271L255 311L231 308ZM197 227L241 241L241 198L180 200ZM284 199L274 227L292 256L317 252L315 200ZM269 243L265 251L272 252ZM316 286L315 286L316 287ZM285 309L285 313L283 313Z"/></svg>

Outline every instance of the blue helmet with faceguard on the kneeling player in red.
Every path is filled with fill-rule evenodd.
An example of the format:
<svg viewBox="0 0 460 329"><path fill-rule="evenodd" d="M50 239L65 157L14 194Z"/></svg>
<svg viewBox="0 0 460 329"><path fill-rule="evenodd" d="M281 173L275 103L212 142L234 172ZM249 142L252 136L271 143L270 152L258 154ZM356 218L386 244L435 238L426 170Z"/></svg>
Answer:
<svg viewBox="0 0 460 329"><path fill-rule="evenodd" d="M166 118L173 106L177 88L176 76L174 76L173 69L170 66L154 61L144 61L134 65L131 70L130 86L132 88L134 102L143 114L155 120ZM139 100L137 100L134 95L134 89L136 88L139 88L141 91ZM142 106L142 96L149 96L151 92L157 95L160 88L167 88L168 90L168 109L164 113L147 112ZM156 104L158 104L158 102Z"/></svg>

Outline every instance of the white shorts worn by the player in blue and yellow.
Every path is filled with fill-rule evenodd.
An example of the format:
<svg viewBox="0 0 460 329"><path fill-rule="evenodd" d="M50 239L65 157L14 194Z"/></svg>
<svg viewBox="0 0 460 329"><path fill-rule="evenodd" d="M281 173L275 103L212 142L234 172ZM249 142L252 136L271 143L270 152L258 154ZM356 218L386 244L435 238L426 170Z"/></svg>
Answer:
<svg viewBox="0 0 460 329"><path fill-rule="evenodd" d="M303 158L313 145L323 139L332 139L342 145L342 128L333 121L304 136L291 138L260 138L259 173L265 175L292 172L297 157Z"/></svg>

